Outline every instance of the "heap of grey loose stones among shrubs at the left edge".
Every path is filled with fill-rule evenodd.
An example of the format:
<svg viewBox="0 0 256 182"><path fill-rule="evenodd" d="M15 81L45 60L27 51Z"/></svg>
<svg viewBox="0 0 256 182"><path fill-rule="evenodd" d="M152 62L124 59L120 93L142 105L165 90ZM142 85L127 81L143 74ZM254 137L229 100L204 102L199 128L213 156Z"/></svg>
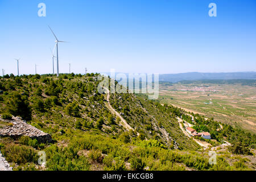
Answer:
<svg viewBox="0 0 256 182"><path fill-rule="evenodd" d="M37 139L38 142L41 143L52 141L51 135L44 133L42 130L37 129L34 126L29 125L26 123L26 121L23 121L19 117L13 117L12 121L6 121L3 119L1 119L1 121L13 124L7 125L6 127L0 129L0 137L19 138L21 136L28 136L32 139Z"/></svg>

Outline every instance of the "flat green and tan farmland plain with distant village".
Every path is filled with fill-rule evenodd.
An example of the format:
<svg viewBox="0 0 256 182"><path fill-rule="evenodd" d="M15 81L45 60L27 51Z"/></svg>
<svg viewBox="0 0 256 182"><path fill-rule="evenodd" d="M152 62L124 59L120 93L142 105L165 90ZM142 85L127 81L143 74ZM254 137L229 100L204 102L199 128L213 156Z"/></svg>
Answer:
<svg viewBox="0 0 256 182"><path fill-rule="evenodd" d="M255 82L160 82L159 100L256 133Z"/></svg>

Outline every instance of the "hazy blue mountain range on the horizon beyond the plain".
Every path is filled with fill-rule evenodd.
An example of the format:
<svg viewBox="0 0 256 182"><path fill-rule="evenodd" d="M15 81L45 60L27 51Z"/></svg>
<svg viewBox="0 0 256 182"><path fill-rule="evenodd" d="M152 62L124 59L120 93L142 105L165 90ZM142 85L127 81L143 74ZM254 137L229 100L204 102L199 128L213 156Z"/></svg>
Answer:
<svg viewBox="0 0 256 182"><path fill-rule="evenodd" d="M183 80L235 80L256 79L256 72L233 72L233 73L177 73L159 75L159 81L179 82Z"/></svg>

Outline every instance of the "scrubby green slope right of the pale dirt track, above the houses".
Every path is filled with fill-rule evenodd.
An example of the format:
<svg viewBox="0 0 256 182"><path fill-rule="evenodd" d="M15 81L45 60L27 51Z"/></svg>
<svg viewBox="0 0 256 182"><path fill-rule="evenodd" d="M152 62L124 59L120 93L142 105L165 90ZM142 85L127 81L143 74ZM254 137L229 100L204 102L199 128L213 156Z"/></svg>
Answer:
<svg viewBox="0 0 256 182"><path fill-rule="evenodd" d="M111 104L123 118L146 138L160 140L168 146L177 144L179 149L198 148L193 140L188 140L180 130L175 114L158 102L147 100L146 96L134 94L111 94Z"/></svg>

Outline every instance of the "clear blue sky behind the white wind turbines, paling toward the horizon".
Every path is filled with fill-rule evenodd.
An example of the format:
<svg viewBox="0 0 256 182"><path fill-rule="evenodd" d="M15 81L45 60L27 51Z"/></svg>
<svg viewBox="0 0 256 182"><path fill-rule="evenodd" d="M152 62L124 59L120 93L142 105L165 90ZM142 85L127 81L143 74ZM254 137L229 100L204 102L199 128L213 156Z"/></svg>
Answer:
<svg viewBox="0 0 256 182"><path fill-rule="evenodd" d="M46 4L46 17L38 4ZM217 17L209 17L209 3ZM60 72L183 73L256 71L256 1L0 0L0 69ZM55 65L56 66L56 65ZM56 68L56 67L55 67ZM2 75L2 73L1 73Z"/></svg>

